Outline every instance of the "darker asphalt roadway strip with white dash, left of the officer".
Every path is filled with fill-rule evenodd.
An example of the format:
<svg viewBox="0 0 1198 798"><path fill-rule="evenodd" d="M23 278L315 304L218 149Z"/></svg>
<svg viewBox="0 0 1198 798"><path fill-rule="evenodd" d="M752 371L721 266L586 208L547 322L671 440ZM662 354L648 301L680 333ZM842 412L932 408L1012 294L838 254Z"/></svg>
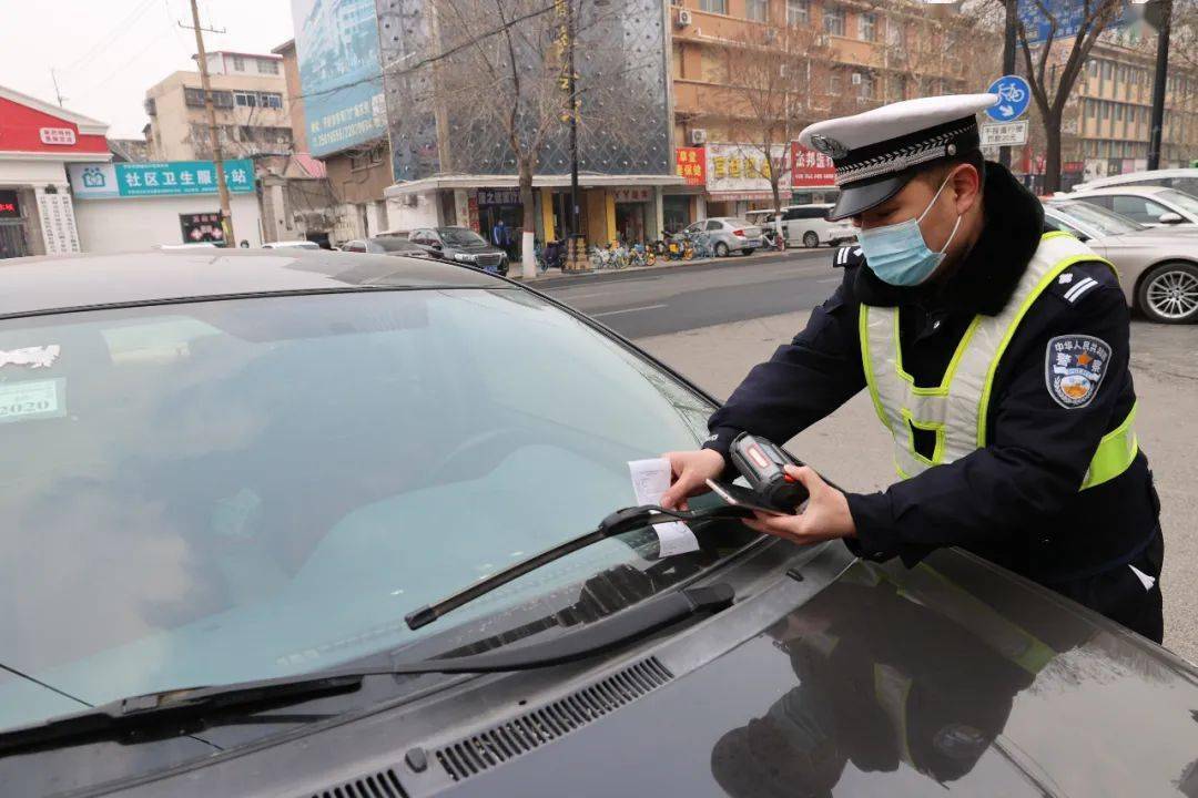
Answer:
<svg viewBox="0 0 1198 798"><path fill-rule="evenodd" d="M549 285L546 293L629 337L665 335L745 318L815 307L836 288L841 272L821 246L782 257L728 257L597 280Z"/></svg>

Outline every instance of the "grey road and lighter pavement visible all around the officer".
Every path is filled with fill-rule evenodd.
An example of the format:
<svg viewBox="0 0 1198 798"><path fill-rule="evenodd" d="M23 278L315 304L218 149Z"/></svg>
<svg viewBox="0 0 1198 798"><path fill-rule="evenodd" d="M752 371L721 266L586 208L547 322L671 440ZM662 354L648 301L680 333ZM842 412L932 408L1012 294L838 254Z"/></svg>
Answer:
<svg viewBox="0 0 1198 798"><path fill-rule="evenodd" d="M551 285L553 296L597 316L726 397L754 364L803 329L811 307L839 282L828 249L785 260L604 275ZM610 276L615 276L612 280ZM587 280L582 278L582 280ZM1161 494L1166 538L1164 642L1198 663L1198 327L1132 323L1136 427ZM863 392L789 443L845 489L885 489L894 480L887 440Z"/></svg>

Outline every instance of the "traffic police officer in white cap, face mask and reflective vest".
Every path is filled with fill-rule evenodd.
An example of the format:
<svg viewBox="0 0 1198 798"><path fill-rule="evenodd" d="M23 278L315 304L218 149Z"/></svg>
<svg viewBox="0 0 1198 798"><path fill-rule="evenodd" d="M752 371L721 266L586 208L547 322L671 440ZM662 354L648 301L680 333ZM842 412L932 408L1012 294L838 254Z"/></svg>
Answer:
<svg viewBox="0 0 1198 798"><path fill-rule="evenodd" d="M833 159L858 244L806 328L755 366L701 451L670 452L665 506L727 468L740 432L785 441L867 389L900 481L845 494L807 468L805 512L750 526L845 538L912 566L960 546L1160 641L1160 504L1136 432L1129 311L1114 268L1003 166L975 114L927 97L806 128Z"/></svg>

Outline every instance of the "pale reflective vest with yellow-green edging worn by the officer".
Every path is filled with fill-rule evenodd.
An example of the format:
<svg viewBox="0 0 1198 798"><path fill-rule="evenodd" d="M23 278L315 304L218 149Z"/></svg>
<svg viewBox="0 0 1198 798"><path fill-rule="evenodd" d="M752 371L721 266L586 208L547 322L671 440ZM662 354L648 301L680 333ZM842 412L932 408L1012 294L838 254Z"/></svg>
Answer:
<svg viewBox="0 0 1198 798"><path fill-rule="evenodd" d="M1003 353L1036 298L1061 272L1079 261L1111 266L1067 233L1045 233L1010 301L997 316L974 317L944 378L933 388L916 386L902 367L898 309L861 305L861 365L873 408L894 438L898 476L915 476L986 445L986 416ZM1138 451L1132 430L1135 416L1132 407L1123 424L1102 438L1079 489L1101 485L1127 470ZM912 427L936 435L931 457L915 451Z"/></svg>

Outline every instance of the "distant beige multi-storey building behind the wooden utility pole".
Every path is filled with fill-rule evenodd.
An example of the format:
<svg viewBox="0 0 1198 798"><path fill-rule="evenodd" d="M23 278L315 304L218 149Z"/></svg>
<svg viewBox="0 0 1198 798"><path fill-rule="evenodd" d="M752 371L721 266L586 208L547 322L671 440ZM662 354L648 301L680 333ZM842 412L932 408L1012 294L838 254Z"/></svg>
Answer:
<svg viewBox="0 0 1198 798"><path fill-rule="evenodd" d="M292 152L283 59L273 54L208 53L217 130L225 158ZM199 72L175 72L146 91L146 141L153 160L212 158Z"/></svg>

